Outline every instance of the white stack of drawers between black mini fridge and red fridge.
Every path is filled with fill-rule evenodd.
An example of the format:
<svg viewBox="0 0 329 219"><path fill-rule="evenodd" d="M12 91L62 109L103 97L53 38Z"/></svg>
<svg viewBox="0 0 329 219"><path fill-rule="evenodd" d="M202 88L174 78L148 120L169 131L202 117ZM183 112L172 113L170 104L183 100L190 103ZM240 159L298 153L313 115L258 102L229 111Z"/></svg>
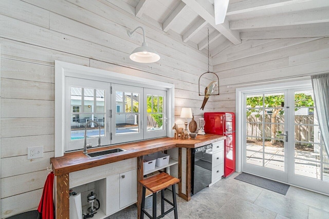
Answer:
<svg viewBox="0 0 329 219"><path fill-rule="evenodd" d="M221 180L224 175L224 141L212 144L211 185Z"/></svg>

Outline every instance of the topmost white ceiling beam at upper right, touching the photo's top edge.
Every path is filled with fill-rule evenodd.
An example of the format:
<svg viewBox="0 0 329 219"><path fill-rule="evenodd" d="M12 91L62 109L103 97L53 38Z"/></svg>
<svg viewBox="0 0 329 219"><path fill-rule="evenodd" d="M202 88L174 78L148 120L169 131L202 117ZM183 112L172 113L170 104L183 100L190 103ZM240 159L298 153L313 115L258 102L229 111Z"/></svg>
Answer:
<svg viewBox="0 0 329 219"><path fill-rule="evenodd" d="M285 5L291 5L302 2L309 2L312 0L245 0L242 2L236 2L228 5L226 15L241 14L246 12L252 12L256 10L265 10L269 8L275 8Z"/></svg>

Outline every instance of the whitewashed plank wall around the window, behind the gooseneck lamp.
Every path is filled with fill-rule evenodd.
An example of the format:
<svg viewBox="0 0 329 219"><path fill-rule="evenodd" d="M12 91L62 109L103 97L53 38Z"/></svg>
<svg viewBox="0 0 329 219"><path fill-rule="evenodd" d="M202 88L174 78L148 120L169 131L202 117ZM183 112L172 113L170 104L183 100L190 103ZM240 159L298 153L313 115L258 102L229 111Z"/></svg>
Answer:
<svg viewBox="0 0 329 219"><path fill-rule="evenodd" d="M1 218L39 205L54 156L54 61L64 61L175 84L175 116L203 96L199 75L207 56L175 35L152 27L106 1L1 0ZM130 61L143 26L158 63ZM202 81L204 85L208 79ZM212 110L211 102L205 110ZM44 146L43 158L27 160L27 147Z"/></svg>

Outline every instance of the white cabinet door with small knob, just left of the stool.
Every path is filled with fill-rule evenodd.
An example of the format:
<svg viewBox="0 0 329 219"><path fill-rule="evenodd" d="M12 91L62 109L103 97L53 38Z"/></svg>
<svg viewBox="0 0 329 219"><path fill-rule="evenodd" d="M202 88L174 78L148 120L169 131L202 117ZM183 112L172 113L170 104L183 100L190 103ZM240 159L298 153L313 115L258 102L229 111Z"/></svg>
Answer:
<svg viewBox="0 0 329 219"><path fill-rule="evenodd" d="M137 170L120 173L120 209L137 202Z"/></svg>

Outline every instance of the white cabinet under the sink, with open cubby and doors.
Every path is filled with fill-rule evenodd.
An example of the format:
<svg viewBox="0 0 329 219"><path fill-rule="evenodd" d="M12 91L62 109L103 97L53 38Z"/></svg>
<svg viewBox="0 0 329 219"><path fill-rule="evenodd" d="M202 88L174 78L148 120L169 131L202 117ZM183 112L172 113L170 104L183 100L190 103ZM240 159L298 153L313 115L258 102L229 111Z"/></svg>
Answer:
<svg viewBox="0 0 329 219"><path fill-rule="evenodd" d="M106 218L137 202L137 159L70 173L70 188L90 182L95 182L95 193L100 202L100 209L93 219Z"/></svg>

